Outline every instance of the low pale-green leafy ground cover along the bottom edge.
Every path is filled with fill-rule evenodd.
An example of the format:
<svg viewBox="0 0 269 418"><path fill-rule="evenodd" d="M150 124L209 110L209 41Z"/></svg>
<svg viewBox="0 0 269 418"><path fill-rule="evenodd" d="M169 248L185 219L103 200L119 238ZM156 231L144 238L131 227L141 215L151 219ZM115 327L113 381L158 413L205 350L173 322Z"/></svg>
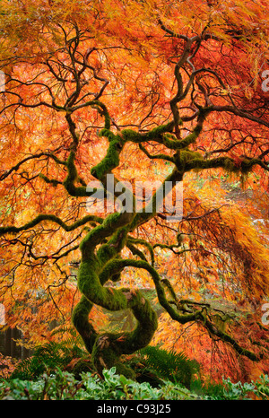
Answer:
<svg viewBox="0 0 269 418"><path fill-rule="evenodd" d="M54 375L44 373L37 380L7 379L0 382L0 400L239 400L250 399L252 394L261 399L269 396L267 375L256 383L232 383L230 379L223 379L221 390L218 388L218 392L211 395L197 395L170 381L152 388L148 382L139 383L117 375L115 368L104 370L103 377L82 372L78 380L74 374L57 369Z"/></svg>

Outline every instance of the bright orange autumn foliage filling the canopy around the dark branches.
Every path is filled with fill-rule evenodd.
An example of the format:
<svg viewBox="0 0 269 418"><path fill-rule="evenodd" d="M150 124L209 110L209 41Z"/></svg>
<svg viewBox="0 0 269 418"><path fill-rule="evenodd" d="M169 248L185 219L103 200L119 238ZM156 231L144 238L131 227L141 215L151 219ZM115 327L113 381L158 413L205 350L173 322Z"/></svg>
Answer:
<svg viewBox="0 0 269 418"><path fill-rule="evenodd" d="M3 0L0 10L0 211L2 228L15 228L1 230L7 324L22 328L28 344L42 344L53 338L54 321L71 321L80 300L79 245L96 224L68 228L87 215L85 187L99 179L92 169L106 161L111 138L101 131L104 118L111 123L107 131L122 141L111 169L117 179L134 185L175 172L183 179L179 222L158 213L129 229L141 239L136 247L143 259L149 262L154 250L154 268L177 296L170 300L162 282L170 305L191 300L187 309L194 312L230 301L253 315L269 290L265 1ZM146 137L168 122L172 129ZM73 193L67 184L72 152ZM62 223L31 223L44 213ZM120 256L137 259L139 252L124 245ZM133 266L120 285L154 288L148 271ZM105 316L95 309L91 322L103 329ZM231 335L260 353L247 341L252 332L263 340L265 330L236 320ZM154 336L155 343L163 341L195 357L213 379L268 372L266 352L257 364L238 357L201 321L181 325L166 314Z"/></svg>

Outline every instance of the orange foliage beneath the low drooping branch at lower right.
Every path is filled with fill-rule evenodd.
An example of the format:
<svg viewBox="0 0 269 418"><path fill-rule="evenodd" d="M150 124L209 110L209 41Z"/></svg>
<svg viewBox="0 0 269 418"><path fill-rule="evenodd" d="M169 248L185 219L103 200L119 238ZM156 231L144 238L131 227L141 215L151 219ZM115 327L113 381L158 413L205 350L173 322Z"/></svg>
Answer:
<svg viewBox="0 0 269 418"><path fill-rule="evenodd" d="M161 316L159 333L155 336L153 343L162 342L162 348L166 350L184 352L191 359L195 359L201 365L201 378L211 379L221 383L222 378L230 378L233 382L256 381L262 374L268 374L268 341L267 330L256 324L256 315L249 318L239 318L236 326L230 327L230 332L236 335L237 341L244 344L251 340L249 347L253 349L258 344L263 347L263 358L259 362L253 362L246 357L240 356L233 350L232 346L224 344L221 340L215 339L204 331L201 324L191 323L186 326L177 324ZM173 338L170 335L173 335Z"/></svg>

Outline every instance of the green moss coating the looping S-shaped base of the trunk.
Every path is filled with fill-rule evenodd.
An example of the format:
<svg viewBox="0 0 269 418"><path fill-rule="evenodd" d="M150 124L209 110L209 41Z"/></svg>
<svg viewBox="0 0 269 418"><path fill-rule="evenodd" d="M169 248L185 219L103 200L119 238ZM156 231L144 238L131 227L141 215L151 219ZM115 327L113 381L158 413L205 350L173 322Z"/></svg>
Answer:
<svg viewBox="0 0 269 418"><path fill-rule="evenodd" d="M110 222L108 223L109 227ZM111 240L117 243L118 239L126 239L125 228L116 231ZM74 325L82 335L85 344L88 344L87 349L91 347L92 360L100 373L104 368L121 367L120 357L122 354L134 353L149 344L158 325L157 315L142 293L128 288L109 289L103 286L108 278L117 275L124 266L129 264L129 260L117 256L115 247L108 248L107 246L108 243L104 244L97 256L92 252L91 257L88 257L87 261L82 261L80 265L78 287L84 296L74 309L73 315ZM109 252L109 257L115 257L115 255L116 257L110 259L102 269L100 256L103 257L106 251ZM88 324L92 303L112 311L132 309L137 320L134 331L119 335L97 336L91 325ZM122 372L127 374L128 370L122 369Z"/></svg>

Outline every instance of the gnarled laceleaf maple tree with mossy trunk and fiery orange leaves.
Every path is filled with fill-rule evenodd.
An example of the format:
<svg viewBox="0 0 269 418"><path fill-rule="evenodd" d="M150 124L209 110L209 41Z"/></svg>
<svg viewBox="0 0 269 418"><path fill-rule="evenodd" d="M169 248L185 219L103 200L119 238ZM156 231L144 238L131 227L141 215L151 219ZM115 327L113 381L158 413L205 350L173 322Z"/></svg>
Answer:
<svg viewBox="0 0 269 418"><path fill-rule="evenodd" d="M121 356L150 344L158 328L141 291L149 287L173 321L197 323L260 360L266 347L238 341L233 317L211 298L257 306L268 295L266 224L262 235L221 187L223 177L251 182L253 196L263 196L249 204L251 215L265 219L265 2L38 0L1 10L9 324L40 341L51 320L72 315L97 370L126 372ZM122 200L112 213L92 213L89 184L98 182L108 209L111 174L112 200L124 191L132 210ZM183 184L178 222L168 207L158 211L158 190L138 212L135 188L122 187L156 179L164 193L168 181ZM134 329L100 332L98 307L130 309Z"/></svg>

